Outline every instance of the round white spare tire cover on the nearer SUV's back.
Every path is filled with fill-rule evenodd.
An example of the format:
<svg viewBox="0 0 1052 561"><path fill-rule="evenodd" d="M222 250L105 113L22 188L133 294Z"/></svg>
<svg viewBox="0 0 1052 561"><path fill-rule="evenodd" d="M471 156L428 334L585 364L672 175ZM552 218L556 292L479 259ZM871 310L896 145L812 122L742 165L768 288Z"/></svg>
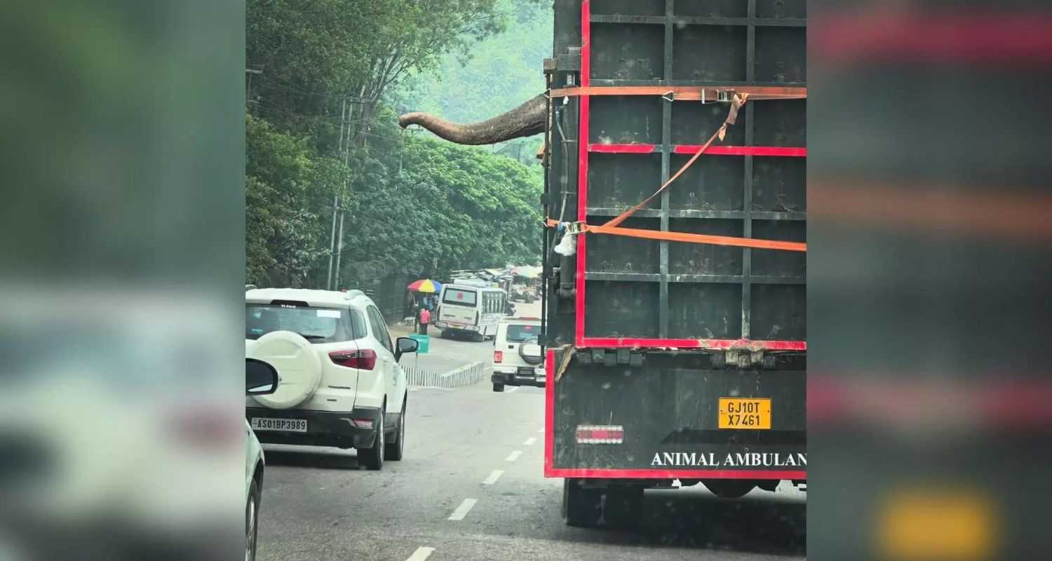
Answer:
<svg viewBox="0 0 1052 561"><path fill-rule="evenodd" d="M270 332L255 343L246 345L245 356L278 369L278 390L252 399L271 409L287 409L313 395L322 381L322 363L310 341L292 332Z"/></svg>

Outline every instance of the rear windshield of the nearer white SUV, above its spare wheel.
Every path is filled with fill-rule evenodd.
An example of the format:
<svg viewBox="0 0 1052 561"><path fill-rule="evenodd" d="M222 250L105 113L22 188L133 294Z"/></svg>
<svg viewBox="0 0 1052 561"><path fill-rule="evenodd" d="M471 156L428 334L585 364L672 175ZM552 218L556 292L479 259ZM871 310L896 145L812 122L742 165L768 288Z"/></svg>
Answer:
<svg viewBox="0 0 1052 561"><path fill-rule="evenodd" d="M365 320L356 309L246 304L245 339L259 339L270 332L297 333L311 343L350 341L366 333Z"/></svg>

